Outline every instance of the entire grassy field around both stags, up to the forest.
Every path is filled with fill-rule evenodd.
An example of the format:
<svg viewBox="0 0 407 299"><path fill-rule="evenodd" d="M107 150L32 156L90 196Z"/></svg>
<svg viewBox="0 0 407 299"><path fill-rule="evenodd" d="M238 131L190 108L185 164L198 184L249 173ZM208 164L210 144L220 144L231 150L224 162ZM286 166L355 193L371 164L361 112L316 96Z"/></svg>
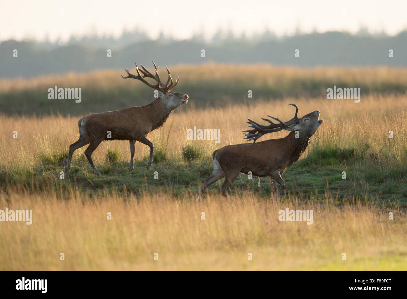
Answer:
<svg viewBox="0 0 407 299"><path fill-rule="evenodd" d="M407 70L201 65L171 71L181 77L176 91L190 100L149 135L153 165L146 169L149 148L136 142L129 172L128 142L103 142L92 155L101 177L83 147L60 178L79 136L77 120L141 105L138 92L148 103L151 91L110 81L116 71L0 81L0 210L33 210L32 225L0 223L0 270L407 270ZM46 91L54 85L82 85L89 93L82 103L50 104ZM361 102L327 100L333 85L362 87ZM213 170L212 152L243 143L246 118L292 118L288 103L298 105L299 116L321 111L324 123L284 173L286 194L267 201L269 179L241 174L230 201L219 196L221 180L196 205L200 182ZM220 142L187 140L194 126L220 129ZM313 210L313 225L278 221L286 207Z"/></svg>

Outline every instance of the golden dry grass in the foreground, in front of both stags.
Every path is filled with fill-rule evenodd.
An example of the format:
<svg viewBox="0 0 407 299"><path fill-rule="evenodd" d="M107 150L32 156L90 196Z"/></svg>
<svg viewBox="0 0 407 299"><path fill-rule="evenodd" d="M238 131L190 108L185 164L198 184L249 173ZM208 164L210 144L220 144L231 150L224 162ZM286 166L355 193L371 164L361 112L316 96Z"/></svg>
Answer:
<svg viewBox="0 0 407 299"><path fill-rule="evenodd" d="M0 207L33 210L32 225L1 223L0 270L407 270L405 210L389 220L390 210L362 201L338 208L332 198L304 205L248 193L195 205L164 193L65 201L47 192L1 193ZM280 222L286 207L313 210L313 224Z"/></svg>

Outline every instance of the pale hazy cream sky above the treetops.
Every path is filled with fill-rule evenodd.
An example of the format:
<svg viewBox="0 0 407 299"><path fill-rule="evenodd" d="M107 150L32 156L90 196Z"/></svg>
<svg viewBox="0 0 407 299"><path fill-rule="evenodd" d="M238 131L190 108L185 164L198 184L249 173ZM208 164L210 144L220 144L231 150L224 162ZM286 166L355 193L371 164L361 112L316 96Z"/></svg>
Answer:
<svg viewBox="0 0 407 299"><path fill-rule="evenodd" d="M160 31L176 39L193 33L211 37L218 28L236 35L277 35L313 30L394 35L407 28L406 0L0 0L0 40L26 37L54 41L98 33L120 35L138 27L152 38ZM63 14L63 15L61 15Z"/></svg>

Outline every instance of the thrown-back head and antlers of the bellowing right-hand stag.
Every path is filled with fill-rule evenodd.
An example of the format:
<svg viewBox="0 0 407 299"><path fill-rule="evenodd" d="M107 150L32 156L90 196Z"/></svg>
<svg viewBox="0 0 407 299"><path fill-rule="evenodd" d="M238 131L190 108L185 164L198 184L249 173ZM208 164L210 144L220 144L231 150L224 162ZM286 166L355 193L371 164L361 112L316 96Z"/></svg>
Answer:
<svg viewBox="0 0 407 299"><path fill-rule="evenodd" d="M250 124L249 127L254 128L251 130L243 131L247 132L244 133L246 135L245 139L247 141L253 140L253 143L256 142L258 138L263 136L264 134L267 133L272 133L272 132L277 132L281 130L287 130L287 131L298 131L301 137L304 138L310 138L315 131L319 128L319 126L322 124L324 120L318 119L319 116L319 111L314 111L311 113L308 113L304 115L302 118L298 118L298 107L295 104L289 104L291 106L295 107L295 115L294 117L289 120L288 122L282 122L279 118L274 118L273 116L269 116L270 118L277 120L278 123L274 123L271 120L267 118L262 118L262 120L265 120L266 122L269 122L269 125L261 125L253 120L248 119L249 121L247 122Z"/></svg>

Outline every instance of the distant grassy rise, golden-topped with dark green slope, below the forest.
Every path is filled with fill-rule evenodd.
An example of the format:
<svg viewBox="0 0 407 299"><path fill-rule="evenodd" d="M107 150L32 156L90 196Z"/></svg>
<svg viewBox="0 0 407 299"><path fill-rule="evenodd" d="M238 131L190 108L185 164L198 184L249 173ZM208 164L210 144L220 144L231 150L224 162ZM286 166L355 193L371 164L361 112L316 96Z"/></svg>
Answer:
<svg viewBox="0 0 407 299"><path fill-rule="evenodd" d="M152 63L143 64L149 70ZM135 72L133 63L128 70ZM164 65L159 68L166 78ZM360 88L368 94L405 94L407 68L292 68L271 65L174 65L179 74L174 89L190 95L184 110L225 107L236 103L252 105L258 100L283 98L326 98L326 89ZM122 79L125 70L39 76L33 79L0 79L1 111L7 115L77 115L142 106L151 102L153 90L132 79ZM82 102L48 100L48 88L82 88ZM248 98L252 90L253 98Z"/></svg>

